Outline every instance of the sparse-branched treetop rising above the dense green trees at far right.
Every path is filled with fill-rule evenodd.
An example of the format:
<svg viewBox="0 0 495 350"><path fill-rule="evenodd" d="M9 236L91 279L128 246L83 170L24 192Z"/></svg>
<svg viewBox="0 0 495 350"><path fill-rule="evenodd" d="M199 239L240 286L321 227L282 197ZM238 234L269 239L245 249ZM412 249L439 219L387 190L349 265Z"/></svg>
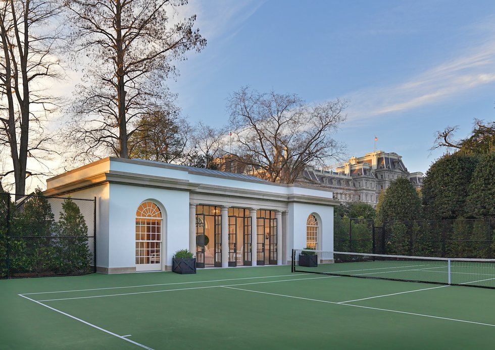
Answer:
<svg viewBox="0 0 495 350"><path fill-rule="evenodd" d="M448 126L442 131L437 131L432 149L446 147L466 154L485 154L495 151L495 122L474 119L471 135L460 140L454 139L457 130L457 126Z"/></svg>

